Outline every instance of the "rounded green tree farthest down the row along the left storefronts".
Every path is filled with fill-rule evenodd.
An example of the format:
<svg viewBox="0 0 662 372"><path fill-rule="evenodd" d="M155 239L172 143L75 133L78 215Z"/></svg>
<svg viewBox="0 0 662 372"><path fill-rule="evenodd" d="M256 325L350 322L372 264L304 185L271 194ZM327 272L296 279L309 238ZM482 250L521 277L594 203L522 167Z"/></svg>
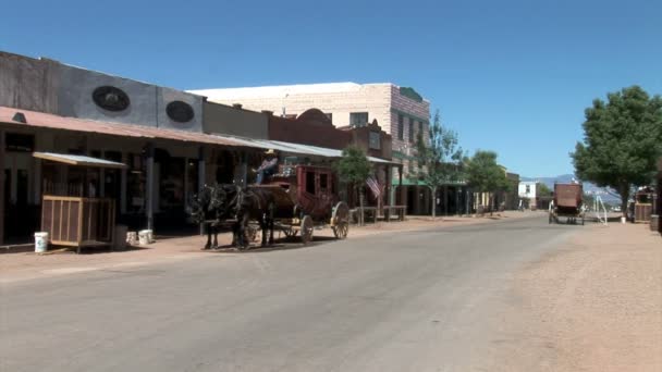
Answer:
<svg viewBox="0 0 662 372"><path fill-rule="evenodd" d="M493 209L493 194L506 191L512 186L504 169L497 162L497 152L478 150L466 160L465 177L467 184L478 193L489 193L490 211Z"/></svg>

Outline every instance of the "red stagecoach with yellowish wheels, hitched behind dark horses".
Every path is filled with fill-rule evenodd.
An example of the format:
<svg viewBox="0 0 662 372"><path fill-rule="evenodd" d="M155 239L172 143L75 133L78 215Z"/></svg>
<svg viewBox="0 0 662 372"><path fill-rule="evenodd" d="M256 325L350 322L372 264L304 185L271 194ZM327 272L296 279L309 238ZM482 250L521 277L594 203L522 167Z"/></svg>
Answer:
<svg viewBox="0 0 662 372"><path fill-rule="evenodd" d="M314 230L330 226L338 239L347 237L350 207L340 201L335 171L318 165L280 165L279 172L262 185L248 189L267 189L274 196L273 227L287 237L312 240ZM257 241L260 226L247 228L248 240Z"/></svg>

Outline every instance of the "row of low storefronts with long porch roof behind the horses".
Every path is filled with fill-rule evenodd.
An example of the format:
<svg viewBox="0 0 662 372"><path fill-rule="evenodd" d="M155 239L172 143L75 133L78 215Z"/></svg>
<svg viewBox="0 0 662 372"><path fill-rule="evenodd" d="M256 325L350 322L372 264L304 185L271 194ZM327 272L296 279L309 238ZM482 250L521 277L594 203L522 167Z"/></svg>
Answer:
<svg viewBox="0 0 662 372"><path fill-rule="evenodd" d="M250 183L255 174L249 170L259 166L266 149L283 158L330 162L357 133L334 127L321 112L281 119L50 59L0 52L0 243L38 231L47 194L112 198L115 222L131 228L181 228L187 202L204 184ZM390 136L379 135L390 146ZM126 168L68 166L35 152L91 157ZM390 148L373 151L376 169L391 164L380 156L390 157ZM72 190L72 185L78 187Z"/></svg>

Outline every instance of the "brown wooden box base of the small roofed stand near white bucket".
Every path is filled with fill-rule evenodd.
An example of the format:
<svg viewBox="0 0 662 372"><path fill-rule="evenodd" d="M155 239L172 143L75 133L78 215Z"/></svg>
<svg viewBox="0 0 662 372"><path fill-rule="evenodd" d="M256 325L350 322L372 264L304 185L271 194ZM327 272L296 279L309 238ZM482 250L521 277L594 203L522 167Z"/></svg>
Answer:
<svg viewBox="0 0 662 372"><path fill-rule="evenodd" d="M114 234L115 203L109 198L45 195L41 231L57 246L110 245Z"/></svg>

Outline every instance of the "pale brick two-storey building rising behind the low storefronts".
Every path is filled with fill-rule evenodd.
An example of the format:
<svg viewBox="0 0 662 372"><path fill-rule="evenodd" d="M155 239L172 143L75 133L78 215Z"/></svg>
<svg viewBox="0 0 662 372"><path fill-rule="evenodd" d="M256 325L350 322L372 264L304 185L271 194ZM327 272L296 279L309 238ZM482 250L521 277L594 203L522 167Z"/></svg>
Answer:
<svg viewBox="0 0 662 372"><path fill-rule="evenodd" d="M252 88L189 90L209 101L242 104L250 110L267 110L277 116L295 119L308 109L319 109L339 128L368 126L375 120L391 136L393 161L402 171L392 172L391 184L404 178L404 187L392 188L390 203L407 204L413 214L429 214L430 190L408 182L417 166L416 139L429 134L430 102L416 90L394 84L309 84Z"/></svg>

